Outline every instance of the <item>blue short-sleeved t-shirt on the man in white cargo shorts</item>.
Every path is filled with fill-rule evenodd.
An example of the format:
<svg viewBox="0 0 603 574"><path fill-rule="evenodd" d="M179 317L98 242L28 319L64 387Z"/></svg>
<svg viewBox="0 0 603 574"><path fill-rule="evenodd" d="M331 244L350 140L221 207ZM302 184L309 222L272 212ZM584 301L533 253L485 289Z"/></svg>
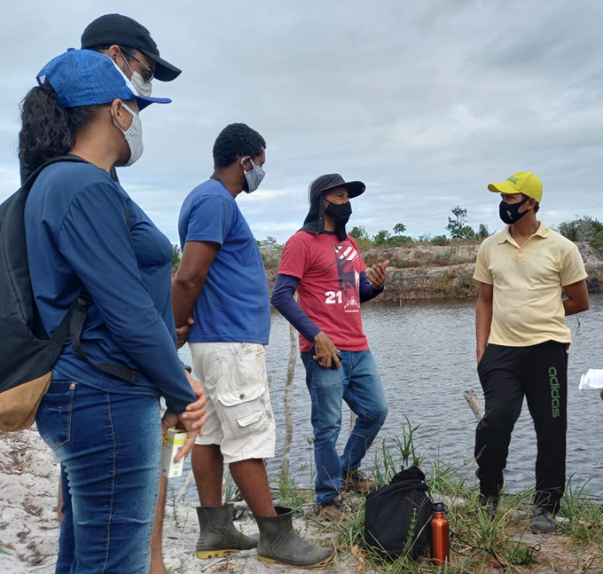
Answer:
<svg viewBox="0 0 603 574"><path fill-rule="evenodd" d="M190 342L268 344L270 301L262 254L231 193L210 179L184 200L180 242L211 241L220 249L193 310Z"/></svg>

